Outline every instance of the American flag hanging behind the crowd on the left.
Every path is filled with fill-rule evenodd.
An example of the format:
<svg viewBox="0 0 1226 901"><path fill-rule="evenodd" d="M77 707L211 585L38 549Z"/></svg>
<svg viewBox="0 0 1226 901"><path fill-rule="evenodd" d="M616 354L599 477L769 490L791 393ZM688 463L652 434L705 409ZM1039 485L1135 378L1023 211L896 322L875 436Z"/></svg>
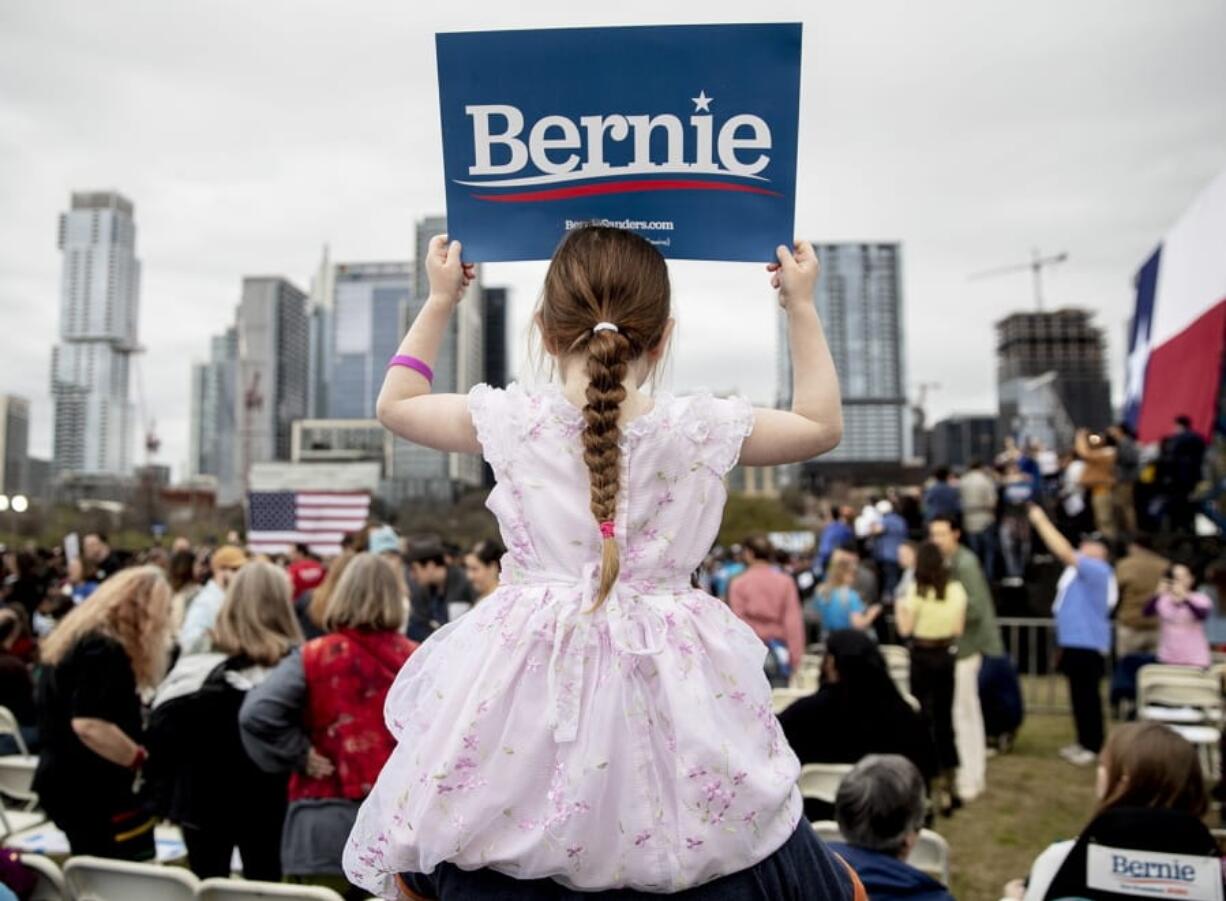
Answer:
<svg viewBox="0 0 1226 901"><path fill-rule="evenodd" d="M246 543L255 554L283 554L302 542L320 557L341 553L341 538L367 525L368 492L250 492Z"/></svg>

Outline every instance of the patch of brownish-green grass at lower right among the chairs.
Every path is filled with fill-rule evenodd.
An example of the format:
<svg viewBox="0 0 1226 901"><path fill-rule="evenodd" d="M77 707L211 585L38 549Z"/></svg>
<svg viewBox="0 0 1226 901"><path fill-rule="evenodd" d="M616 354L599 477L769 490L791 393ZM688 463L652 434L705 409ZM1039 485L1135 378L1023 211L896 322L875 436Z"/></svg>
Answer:
<svg viewBox="0 0 1226 901"><path fill-rule="evenodd" d="M1027 716L1014 750L988 760L987 792L953 819L937 820L959 901L997 901L1040 851L1081 831L1094 807L1095 767L1057 756L1072 742L1070 716Z"/></svg>

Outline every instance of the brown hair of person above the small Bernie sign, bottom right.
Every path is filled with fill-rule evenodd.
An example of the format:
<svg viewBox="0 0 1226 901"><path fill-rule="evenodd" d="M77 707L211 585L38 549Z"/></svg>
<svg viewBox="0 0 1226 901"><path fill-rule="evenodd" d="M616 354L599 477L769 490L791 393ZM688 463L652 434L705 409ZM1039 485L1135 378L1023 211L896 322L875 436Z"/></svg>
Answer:
<svg viewBox="0 0 1226 901"><path fill-rule="evenodd" d="M1102 749L1107 788L1097 816L1116 807L1156 807L1204 816L1205 778L1195 747L1157 722L1124 723Z"/></svg>

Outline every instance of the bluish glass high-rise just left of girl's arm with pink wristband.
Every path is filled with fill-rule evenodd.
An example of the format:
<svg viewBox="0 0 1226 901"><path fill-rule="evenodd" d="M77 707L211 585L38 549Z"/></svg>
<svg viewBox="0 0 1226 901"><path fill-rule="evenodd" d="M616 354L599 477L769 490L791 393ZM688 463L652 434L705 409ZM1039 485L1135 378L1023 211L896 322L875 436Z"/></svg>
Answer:
<svg viewBox="0 0 1226 901"><path fill-rule="evenodd" d="M371 419L413 293L408 262L337 264L330 311L327 419ZM316 308L322 309L322 308Z"/></svg>

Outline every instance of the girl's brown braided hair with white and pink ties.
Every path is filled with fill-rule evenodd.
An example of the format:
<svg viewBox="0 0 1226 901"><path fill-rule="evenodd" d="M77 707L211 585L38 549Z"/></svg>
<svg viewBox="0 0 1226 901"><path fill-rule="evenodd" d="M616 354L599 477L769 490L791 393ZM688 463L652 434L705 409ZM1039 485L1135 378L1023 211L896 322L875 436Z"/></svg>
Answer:
<svg viewBox="0 0 1226 901"><path fill-rule="evenodd" d="M536 326L548 353L587 359L584 462L597 523L613 522L620 484L620 412L630 363L660 347L668 329L668 266L649 240L603 226L576 228L558 245L544 277ZM612 322L617 331L593 331ZM606 537L595 607L617 581L615 538Z"/></svg>

